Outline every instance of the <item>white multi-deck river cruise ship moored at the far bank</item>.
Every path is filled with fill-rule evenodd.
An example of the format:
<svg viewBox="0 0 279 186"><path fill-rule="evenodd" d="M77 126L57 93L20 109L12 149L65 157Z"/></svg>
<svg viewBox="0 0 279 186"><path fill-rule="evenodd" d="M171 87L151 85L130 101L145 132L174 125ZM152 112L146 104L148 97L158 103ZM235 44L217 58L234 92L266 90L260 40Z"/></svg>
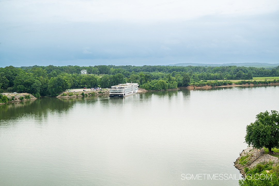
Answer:
<svg viewBox="0 0 279 186"><path fill-rule="evenodd" d="M109 97L125 97L138 93L137 83L125 83L111 86Z"/></svg>

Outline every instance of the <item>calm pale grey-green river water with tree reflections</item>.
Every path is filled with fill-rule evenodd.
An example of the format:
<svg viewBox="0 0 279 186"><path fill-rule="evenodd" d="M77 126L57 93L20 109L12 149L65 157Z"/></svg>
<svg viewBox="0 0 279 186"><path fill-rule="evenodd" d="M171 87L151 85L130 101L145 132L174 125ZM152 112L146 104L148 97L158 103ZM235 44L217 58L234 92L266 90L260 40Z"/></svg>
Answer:
<svg viewBox="0 0 279 186"><path fill-rule="evenodd" d="M233 162L246 148L246 125L259 112L273 109L279 111L279 86L2 105L0 182L237 186L239 171ZM181 174L237 178L182 180Z"/></svg>

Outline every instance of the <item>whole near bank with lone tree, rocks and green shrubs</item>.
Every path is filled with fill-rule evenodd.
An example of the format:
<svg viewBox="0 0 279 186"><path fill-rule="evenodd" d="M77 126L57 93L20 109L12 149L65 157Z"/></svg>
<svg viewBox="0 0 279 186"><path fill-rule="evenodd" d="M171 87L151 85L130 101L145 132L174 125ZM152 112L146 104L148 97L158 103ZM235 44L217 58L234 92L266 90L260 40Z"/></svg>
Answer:
<svg viewBox="0 0 279 186"><path fill-rule="evenodd" d="M239 186L276 185L279 183L279 113L264 111L246 126L248 145L234 162L242 174ZM267 178L267 179L265 179Z"/></svg>

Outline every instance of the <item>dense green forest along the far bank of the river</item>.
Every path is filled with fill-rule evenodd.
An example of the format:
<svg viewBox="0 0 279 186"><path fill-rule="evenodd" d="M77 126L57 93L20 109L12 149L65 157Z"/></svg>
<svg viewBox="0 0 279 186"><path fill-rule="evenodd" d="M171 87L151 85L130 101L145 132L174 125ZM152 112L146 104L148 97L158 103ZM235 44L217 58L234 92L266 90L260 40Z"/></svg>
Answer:
<svg viewBox="0 0 279 186"><path fill-rule="evenodd" d="M81 75L81 70L87 70L88 75ZM248 80L237 83L250 84L257 83L251 81L253 77L278 76L279 66L272 69L243 66L7 66L0 68L0 87L2 92L5 89L40 97L57 96L72 88L110 88L126 81L138 83L146 90L166 90L188 85L227 85L232 84L230 80Z"/></svg>

